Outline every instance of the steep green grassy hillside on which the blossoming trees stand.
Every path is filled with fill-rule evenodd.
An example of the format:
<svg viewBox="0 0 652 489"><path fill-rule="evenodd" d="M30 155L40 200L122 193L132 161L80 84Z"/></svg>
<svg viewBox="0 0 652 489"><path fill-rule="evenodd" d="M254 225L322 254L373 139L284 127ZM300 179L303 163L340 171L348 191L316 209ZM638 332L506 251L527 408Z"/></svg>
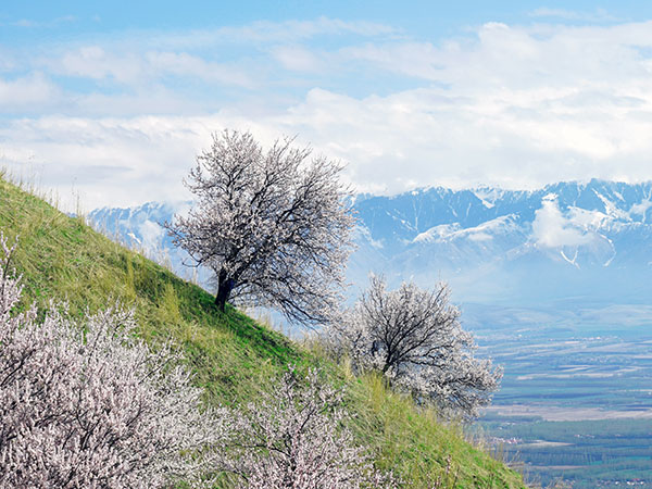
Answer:
<svg viewBox="0 0 652 489"><path fill-rule="evenodd" d="M143 338L183 347L206 402L249 401L288 363L319 365L348 384L356 436L377 450L378 466L392 468L405 487L425 488L437 479L444 481L440 487L524 487L518 474L465 442L459 429L440 425L434 413L388 391L380 378L353 378L235 309L220 313L201 288L2 178L0 230L12 240L20 236L13 263L23 274L25 301L42 306L65 300L73 314L116 300L135 308Z"/></svg>

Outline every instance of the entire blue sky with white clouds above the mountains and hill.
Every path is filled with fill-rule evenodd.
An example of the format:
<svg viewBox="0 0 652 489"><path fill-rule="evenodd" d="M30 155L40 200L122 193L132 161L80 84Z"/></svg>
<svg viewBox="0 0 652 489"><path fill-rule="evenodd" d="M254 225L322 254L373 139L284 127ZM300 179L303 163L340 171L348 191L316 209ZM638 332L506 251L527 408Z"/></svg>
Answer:
<svg viewBox="0 0 652 489"><path fill-rule="evenodd" d="M181 7L179 7L181 5ZM3 2L0 166L68 205L185 198L212 131L361 191L652 179L652 3Z"/></svg>

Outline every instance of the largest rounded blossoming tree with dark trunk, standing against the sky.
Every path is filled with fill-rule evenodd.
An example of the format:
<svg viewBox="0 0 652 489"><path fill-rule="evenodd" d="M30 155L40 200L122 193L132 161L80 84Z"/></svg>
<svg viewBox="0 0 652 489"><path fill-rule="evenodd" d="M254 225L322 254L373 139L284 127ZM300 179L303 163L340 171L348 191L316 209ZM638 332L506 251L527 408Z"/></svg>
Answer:
<svg viewBox="0 0 652 489"><path fill-rule="evenodd" d="M353 226L341 166L276 141L263 153L249 133L225 130L197 158L186 186L197 203L165 223L196 265L214 272L215 303L230 299L321 322L339 301Z"/></svg>

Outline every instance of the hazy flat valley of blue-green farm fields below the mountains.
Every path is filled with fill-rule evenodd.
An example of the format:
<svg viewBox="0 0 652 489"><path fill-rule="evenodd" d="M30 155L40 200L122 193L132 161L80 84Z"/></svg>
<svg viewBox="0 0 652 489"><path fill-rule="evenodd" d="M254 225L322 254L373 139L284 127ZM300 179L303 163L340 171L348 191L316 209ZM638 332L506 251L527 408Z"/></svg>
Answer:
<svg viewBox="0 0 652 489"><path fill-rule="evenodd" d="M652 487L652 319L644 305L466 306L482 352L504 366L478 424L543 487Z"/></svg>

